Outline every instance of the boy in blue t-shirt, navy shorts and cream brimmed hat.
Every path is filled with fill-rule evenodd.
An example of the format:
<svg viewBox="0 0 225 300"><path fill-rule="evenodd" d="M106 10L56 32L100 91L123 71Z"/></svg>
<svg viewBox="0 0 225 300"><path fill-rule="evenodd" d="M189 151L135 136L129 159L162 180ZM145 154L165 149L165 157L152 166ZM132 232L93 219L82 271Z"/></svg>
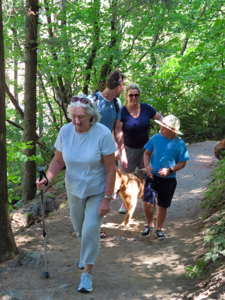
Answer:
<svg viewBox="0 0 225 300"><path fill-rule="evenodd" d="M176 136L180 120L173 115L164 117L160 124L160 134L155 134L144 146L144 164L147 172L143 195L143 209L148 225L141 237L148 237L152 231L158 240L166 237L162 226L176 189L176 172L185 167L189 160L187 147L183 140ZM183 135L183 134L182 134ZM152 158L151 158L152 156ZM151 162L150 162L151 159ZM158 193L158 194L157 194ZM158 212L156 227L153 222L153 203L157 195Z"/></svg>

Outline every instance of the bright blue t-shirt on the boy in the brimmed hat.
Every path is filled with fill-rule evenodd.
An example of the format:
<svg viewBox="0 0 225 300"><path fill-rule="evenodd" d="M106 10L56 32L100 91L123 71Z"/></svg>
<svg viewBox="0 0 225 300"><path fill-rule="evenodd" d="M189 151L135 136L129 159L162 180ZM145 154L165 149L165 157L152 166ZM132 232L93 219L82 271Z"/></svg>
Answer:
<svg viewBox="0 0 225 300"><path fill-rule="evenodd" d="M154 134L144 148L153 152L149 165L152 168L152 174L159 177L162 177L158 174L160 169L172 168L179 161L189 160L187 147L184 141L177 136L170 140L161 134ZM171 177L176 177L176 172L164 178Z"/></svg>

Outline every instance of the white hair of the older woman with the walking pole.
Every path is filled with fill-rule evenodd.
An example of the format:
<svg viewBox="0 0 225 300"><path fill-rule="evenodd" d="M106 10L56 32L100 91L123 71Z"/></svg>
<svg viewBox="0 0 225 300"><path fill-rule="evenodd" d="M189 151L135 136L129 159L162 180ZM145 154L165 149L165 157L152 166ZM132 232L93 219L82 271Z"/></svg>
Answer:
<svg viewBox="0 0 225 300"><path fill-rule="evenodd" d="M98 111L98 108L97 108L97 106L95 105L95 104L93 104L92 102L91 102L91 100L88 98L88 96L87 95L84 95L84 94L79 94L79 95L77 95L77 96L75 96L75 97L78 97L78 98L86 98L87 100L88 100L88 103L90 104L84 104L84 103L81 103L80 101L77 101L77 102L70 102L70 104L68 105L68 107L67 107L67 117L69 118L69 119L72 119L71 118L71 115L70 115L70 110L71 110L71 105L73 105L73 106L75 106L75 107L82 107L82 108L84 108L86 111L87 111L87 113L89 114L89 115L91 115L91 119L90 119L90 124L95 124L95 123L97 123L97 122L99 122L100 121L100 119L101 119L101 116L100 116L100 114L99 114L99 111Z"/></svg>

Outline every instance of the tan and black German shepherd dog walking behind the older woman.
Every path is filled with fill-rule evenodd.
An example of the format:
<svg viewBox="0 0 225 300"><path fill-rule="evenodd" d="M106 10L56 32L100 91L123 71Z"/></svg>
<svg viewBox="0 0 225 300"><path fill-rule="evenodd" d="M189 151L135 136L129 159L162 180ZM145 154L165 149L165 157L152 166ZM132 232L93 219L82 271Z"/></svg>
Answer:
<svg viewBox="0 0 225 300"><path fill-rule="evenodd" d="M118 228L126 228L127 224L130 222L132 214L137 204L137 198L143 199L143 191L146 177L146 169L141 169L133 173L127 173L123 175L118 169L116 171L116 183L114 188L113 200L119 196L123 199L123 202L127 207L127 214L122 224ZM153 210L155 211L155 203L153 204Z"/></svg>

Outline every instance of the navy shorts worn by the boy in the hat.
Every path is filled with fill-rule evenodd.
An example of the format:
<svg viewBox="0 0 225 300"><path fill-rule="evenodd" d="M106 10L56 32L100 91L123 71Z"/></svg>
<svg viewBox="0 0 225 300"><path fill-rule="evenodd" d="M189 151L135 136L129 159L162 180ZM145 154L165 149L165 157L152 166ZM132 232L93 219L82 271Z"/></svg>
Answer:
<svg viewBox="0 0 225 300"><path fill-rule="evenodd" d="M153 175L153 178L149 178L147 175L145 178L143 201L153 204L158 193L157 205L168 208L170 207L176 185L176 178L163 178L156 175Z"/></svg>

